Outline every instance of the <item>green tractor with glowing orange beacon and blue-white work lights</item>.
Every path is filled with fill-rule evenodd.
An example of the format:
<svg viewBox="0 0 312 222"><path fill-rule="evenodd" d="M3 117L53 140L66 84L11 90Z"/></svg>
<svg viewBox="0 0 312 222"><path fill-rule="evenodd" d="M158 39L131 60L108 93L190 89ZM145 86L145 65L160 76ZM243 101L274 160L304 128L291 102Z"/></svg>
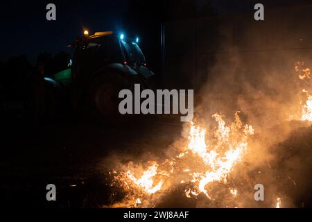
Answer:
<svg viewBox="0 0 312 222"><path fill-rule="evenodd" d="M58 112L67 99L74 110L87 111L92 116L111 118L118 112L119 92L133 89L135 83L153 88L151 79L155 75L146 67L146 60L139 39L116 35L112 31L89 35L71 44L75 49L73 63L69 69L44 78L46 104L50 112Z"/></svg>

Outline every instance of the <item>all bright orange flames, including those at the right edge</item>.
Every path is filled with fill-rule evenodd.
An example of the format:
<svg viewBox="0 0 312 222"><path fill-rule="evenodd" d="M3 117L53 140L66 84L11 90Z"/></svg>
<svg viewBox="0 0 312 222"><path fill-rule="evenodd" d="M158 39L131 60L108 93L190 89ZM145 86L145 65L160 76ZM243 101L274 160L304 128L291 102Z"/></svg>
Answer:
<svg viewBox="0 0 312 222"><path fill-rule="evenodd" d="M309 89L308 82L311 70L303 66L303 62L297 62L295 71L308 90L302 89L304 102L300 102L300 112L296 109L294 118L312 121L312 95L309 92L312 89ZM212 115L214 122L209 127L207 123L210 121L191 121L188 136L181 139L180 146L174 147L174 152L169 152L174 154L163 162L130 165L125 171L114 172L113 184L120 185L125 191L125 204L116 206L155 207L157 200L177 187L181 188L182 196L205 199L207 202L218 198L220 192L216 189L221 187L222 191L229 194L222 196L225 201L227 198L233 200L233 203L239 201L243 189L235 186L239 183L233 180L236 177L233 171L250 152L249 140L254 135L252 126L243 123L239 113L234 114L234 122L231 124L225 123L220 114ZM281 207L281 198L277 198L276 206L273 207Z"/></svg>

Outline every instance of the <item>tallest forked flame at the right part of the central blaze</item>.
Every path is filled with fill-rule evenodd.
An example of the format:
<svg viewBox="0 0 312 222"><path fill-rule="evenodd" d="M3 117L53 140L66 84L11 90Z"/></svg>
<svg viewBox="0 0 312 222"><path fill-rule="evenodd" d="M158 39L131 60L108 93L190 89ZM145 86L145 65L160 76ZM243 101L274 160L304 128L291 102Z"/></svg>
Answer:
<svg viewBox="0 0 312 222"><path fill-rule="evenodd" d="M227 182L228 173L232 171L234 164L241 160L248 148L248 136L254 134L252 126L245 125L243 127L243 123L239 119L239 112L236 112L235 122L230 128L225 126L225 121L219 114L214 114L213 117L218 122L218 128L215 132L215 142L211 146L207 146L205 142L206 130L194 126L193 123L191 123L189 139L189 149L199 155L210 169L204 175L197 174L200 177L198 189L207 198L211 198L211 196L209 196L205 187L214 181ZM242 128L243 135L238 136L237 132Z"/></svg>

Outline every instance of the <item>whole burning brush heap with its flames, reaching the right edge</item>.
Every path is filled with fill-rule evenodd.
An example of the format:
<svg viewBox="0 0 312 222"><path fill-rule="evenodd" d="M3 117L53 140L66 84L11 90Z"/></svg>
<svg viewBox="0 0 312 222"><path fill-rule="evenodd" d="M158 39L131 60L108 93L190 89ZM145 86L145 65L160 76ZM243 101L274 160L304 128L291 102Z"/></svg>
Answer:
<svg viewBox="0 0 312 222"><path fill-rule="evenodd" d="M310 79L310 69L302 69L303 65L297 63L295 71L300 80L306 81ZM302 92L306 101L300 101L299 118L286 123L293 123L292 129L306 127L312 121L312 96L306 89ZM278 158L275 155L262 160L259 151L266 138L257 135L250 124L243 123L240 112L234 114L230 124L220 114L212 118L211 130L207 130L205 123L189 122L188 137L182 138L164 161L131 162L127 171L110 171L112 204L105 207L298 207L302 199L294 200L293 196L303 195L297 189L302 180L296 175L296 167L287 162L291 157L287 153L292 149L295 152L295 145L290 145L292 140L270 144L271 154L277 154ZM278 130L271 130L274 137ZM311 128L304 131L312 132ZM300 144L297 151L309 144L312 141ZM311 167L299 169L309 172ZM259 184L265 189L264 201L254 199L254 187ZM311 188L310 184L306 182Z"/></svg>

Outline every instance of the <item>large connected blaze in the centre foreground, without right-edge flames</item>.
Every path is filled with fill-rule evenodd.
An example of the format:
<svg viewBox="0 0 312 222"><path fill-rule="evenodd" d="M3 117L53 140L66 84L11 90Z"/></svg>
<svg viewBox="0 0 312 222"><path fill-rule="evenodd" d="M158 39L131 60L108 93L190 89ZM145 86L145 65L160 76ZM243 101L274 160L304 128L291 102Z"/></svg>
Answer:
<svg viewBox="0 0 312 222"><path fill-rule="evenodd" d="M248 151L248 138L254 130L248 124L243 125L239 112L236 112L230 126L220 114L212 117L217 126L208 138L206 128L190 122L187 146L181 148L180 154L159 164L152 162L141 173L133 173L135 170L129 169L116 176L116 180L123 182L125 190L132 194L128 198L144 204L144 198L164 194L174 186L185 186L187 198L197 198L202 194L212 200L214 195L209 191L211 182L228 185L227 177ZM236 196L237 190L231 185L229 193Z"/></svg>

